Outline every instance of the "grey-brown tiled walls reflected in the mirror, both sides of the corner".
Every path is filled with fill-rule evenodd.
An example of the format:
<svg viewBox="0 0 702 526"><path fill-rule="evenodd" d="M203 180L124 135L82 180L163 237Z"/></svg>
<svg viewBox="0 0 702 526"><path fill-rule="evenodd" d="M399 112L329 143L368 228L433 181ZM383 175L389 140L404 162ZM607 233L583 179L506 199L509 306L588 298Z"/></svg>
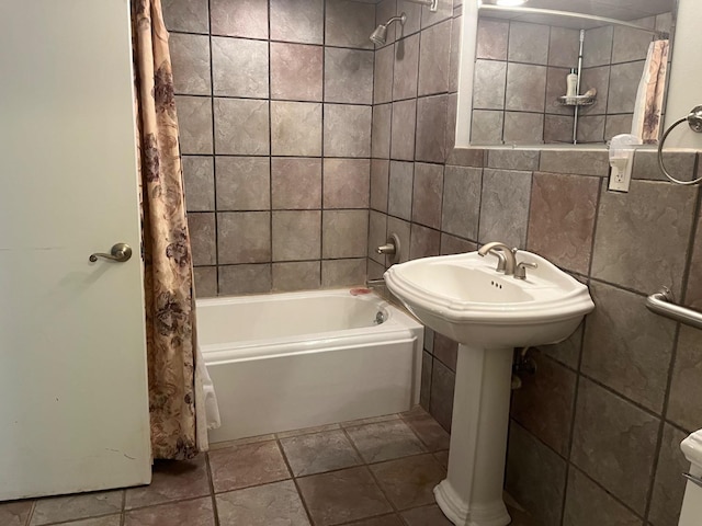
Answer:
<svg viewBox="0 0 702 526"><path fill-rule="evenodd" d="M670 31L671 15L633 21ZM476 145L573 142L574 110L557 104L578 66L579 30L482 18L478 22L473 123ZM587 30L580 92L598 91L579 110L578 141L603 142L631 133L638 82L652 34L602 26Z"/></svg>

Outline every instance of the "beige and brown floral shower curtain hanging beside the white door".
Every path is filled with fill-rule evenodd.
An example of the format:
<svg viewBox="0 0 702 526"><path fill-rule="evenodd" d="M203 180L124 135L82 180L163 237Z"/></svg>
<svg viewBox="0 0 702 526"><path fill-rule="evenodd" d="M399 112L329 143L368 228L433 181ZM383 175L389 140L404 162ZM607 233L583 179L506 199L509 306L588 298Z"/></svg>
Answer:
<svg viewBox="0 0 702 526"><path fill-rule="evenodd" d="M186 459L201 449L195 408L201 396L190 235L160 0L133 0L132 24L151 449L154 458Z"/></svg>

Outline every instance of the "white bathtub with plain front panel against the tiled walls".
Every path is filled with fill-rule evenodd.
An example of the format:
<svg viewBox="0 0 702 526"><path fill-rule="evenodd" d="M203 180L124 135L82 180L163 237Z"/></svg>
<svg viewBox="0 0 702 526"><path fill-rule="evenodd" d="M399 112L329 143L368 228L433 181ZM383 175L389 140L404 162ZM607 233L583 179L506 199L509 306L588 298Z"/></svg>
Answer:
<svg viewBox="0 0 702 526"><path fill-rule="evenodd" d="M222 416L213 443L419 403L423 328L374 294L200 299L197 334Z"/></svg>

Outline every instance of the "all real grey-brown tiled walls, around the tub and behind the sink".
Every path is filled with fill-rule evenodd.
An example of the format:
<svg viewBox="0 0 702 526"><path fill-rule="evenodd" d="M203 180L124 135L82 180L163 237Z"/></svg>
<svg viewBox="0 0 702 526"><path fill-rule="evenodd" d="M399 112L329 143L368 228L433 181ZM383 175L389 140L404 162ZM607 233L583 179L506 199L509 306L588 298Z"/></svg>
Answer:
<svg viewBox="0 0 702 526"><path fill-rule="evenodd" d="M360 14L367 5L359 3L346 11L349 3L329 0L319 14L320 2L299 0L286 12L288 3L271 0L270 16L265 2L224 2L217 11L223 1L210 2L213 13L225 13L217 24L212 19L212 34L205 0L165 2L176 75L179 53L200 53L192 62L210 72L177 77L201 295L217 286L238 294L325 285L325 264L360 268L366 253L370 277L380 277L387 261L374 248L389 232L400 237L403 260L494 240L539 252L588 283L597 309L568 341L531 351L537 373L524 377L512 400L508 490L543 526L673 526L687 469L678 445L702 427L702 334L648 312L644 299L667 285L702 308L699 188L661 181L650 152L636 155L631 192L614 194L605 190L604 152L453 149L460 0L442 0L438 13L384 0L373 15ZM244 5L246 13L226 15ZM306 22L295 16L303 12ZM373 53L365 38L375 22L400 12L405 26L390 26L387 45ZM293 32L299 42L276 25L292 20L301 23ZM349 35L358 35L358 46ZM200 38L202 48L179 38ZM229 45L252 50L229 57ZM305 81L274 82L276 45L301 46L293 57L310 53ZM258 46L271 68L268 83L253 73L215 75L215 53L227 64ZM365 87L351 89L349 77L349 89L327 80L335 53L373 55L372 99ZM309 83L319 64L321 88ZM234 78L246 82L233 85ZM293 87L299 91L288 100ZM349 93L353 102L337 99ZM312 124L296 128L301 122ZM363 162L370 195L362 190L367 179L344 176L362 170L343 167ZM697 152L667 160L681 178L691 178L698 162ZM344 184L351 190L332 191ZM337 275L362 275L346 272ZM456 344L427 333L421 402L450 428Z"/></svg>

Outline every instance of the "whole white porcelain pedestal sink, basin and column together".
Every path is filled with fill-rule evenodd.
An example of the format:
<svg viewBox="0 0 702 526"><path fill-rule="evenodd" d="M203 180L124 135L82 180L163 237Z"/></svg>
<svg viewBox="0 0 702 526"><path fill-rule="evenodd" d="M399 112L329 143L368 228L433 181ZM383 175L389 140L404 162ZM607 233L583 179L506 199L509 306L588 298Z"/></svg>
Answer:
<svg viewBox="0 0 702 526"><path fill-rule="evenodd" d="M424 258L385 273L390 291L427 327L458 342L446 478L437 503L457 526L505 526L505 454L513 347L568 338L595 305L588 288L545 259L524 279L477 252Z"/></svg>

